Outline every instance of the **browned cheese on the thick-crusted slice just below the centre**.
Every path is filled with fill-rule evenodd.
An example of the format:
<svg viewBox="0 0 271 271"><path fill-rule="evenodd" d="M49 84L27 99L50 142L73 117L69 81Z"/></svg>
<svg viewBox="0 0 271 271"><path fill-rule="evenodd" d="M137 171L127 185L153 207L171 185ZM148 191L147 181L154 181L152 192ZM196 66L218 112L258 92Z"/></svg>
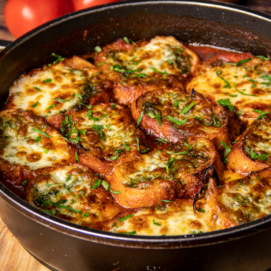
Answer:
<svg viewBox="0 0 271 271"><path fill-rule="evenodd" d="M167 180L179 179L179 182L184 184L186 174L195 172L198 167L212 159L212 154L208 149L209 141L199 139L191 145L187 141L184 141L184 143L178 143L177 148L176 145L158 147L153 152L142 155L142 160L135 165L136 172L127 174L125 172L126 167L124 167L121 182L124 185L133 186L161 178ZM121 165L118 166L121 168L124 162L121 161L120 163Z"/></svg>

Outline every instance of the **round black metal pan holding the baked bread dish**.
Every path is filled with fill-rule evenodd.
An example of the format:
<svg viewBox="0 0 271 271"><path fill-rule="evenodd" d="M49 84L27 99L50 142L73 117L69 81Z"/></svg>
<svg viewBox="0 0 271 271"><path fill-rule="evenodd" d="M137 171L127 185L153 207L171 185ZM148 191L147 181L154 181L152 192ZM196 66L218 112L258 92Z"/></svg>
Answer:
<svg viewBox="0 0 271 271"><path fill-rule="evenodd" d="M271 16L232 4L123 1L55 19L0 53L0 99L22 72L55 52L84 54L117 38L172 35L271 55ZM0 183L0 215L19 242L52 270L264 271L271 267L271 216L235 228L182 236L127 236L85 229L27 204Z"/></svg>

